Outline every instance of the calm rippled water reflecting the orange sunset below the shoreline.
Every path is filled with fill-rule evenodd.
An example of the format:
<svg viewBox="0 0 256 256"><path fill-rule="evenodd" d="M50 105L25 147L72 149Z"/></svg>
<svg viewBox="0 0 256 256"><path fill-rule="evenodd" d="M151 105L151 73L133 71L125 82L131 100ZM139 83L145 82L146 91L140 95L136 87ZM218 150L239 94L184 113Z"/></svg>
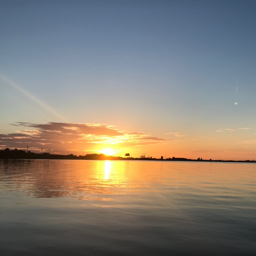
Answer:
<svg viewBox="0 0 256 256"><path fill-rule="evenodd" d="M1 255L256 255L256 165L0 160Z"/></svg>

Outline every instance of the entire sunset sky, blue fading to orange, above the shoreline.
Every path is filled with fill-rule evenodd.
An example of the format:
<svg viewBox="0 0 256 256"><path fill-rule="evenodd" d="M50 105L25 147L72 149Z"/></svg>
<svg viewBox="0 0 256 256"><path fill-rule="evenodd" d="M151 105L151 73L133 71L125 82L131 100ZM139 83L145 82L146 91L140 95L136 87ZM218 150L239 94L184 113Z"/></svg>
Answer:
<svg viewBox="0 0 256 256"><path fill-rule="evenodd" d="M255 1L0 5L0 148L256 159Z"/></svg>

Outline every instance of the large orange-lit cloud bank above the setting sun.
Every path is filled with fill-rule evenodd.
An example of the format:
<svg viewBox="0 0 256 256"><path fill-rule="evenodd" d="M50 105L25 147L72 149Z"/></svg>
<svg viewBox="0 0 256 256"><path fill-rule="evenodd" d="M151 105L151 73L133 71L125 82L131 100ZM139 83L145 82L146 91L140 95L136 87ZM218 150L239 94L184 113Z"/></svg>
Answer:
<svg viewBox="0 0 256 256"><path fill-rule="evenodd" d="M15 133L0 134L1 148L51 148L55 153L65 150L101 149L100 145L118 145L120 148L159 144L167 141L157 137L147 137L142 132L124 132L107 124L54 123L33 124L18 122L15 127L22 127ZM27 129L26 129L27 128Z"/></svg>

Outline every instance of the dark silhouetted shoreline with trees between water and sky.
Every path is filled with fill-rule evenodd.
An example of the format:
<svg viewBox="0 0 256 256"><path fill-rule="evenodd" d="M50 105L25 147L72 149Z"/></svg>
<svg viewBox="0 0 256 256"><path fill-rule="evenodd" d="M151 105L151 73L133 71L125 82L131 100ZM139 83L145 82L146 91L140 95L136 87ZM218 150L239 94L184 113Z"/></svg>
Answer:
<svg viewBox="0 0 256 256"><path fill-rule="evenodd" d="M10 150L6 148L0 150L0 159L59 159L59 160L123 160L123 161L189 161L189 162L228 162L228 163L256 163L253 160L206 160L206 159L188 159L183 157L173 157L166 159L152 158L152 157L121 157L121 156L108 156L104 154L87 154L85 156L76 156L73 154L70 155L55 155L49 153L32 153L30 151L26 152L24 150L13 149Z"/></svg>

